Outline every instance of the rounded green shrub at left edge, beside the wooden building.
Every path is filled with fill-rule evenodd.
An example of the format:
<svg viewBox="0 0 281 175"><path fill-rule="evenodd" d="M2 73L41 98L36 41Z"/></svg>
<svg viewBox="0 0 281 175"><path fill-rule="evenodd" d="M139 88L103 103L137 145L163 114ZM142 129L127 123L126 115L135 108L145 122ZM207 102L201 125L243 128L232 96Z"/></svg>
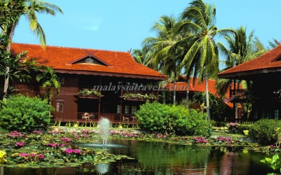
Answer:
<svg viewBox="0 0 281 175"><path fill-rule="evenodd" d="M30 132L37 127L50 124L49 111L53 107L38 97L30 98L21 94L11 96L0 111L0 127L6 130Z"/></svg>

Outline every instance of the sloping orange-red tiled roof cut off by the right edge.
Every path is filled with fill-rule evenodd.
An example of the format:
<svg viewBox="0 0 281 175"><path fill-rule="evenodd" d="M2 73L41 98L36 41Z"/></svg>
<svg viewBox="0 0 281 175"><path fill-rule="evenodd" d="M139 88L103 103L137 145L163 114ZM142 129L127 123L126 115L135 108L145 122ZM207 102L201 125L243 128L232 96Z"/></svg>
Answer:
<svg viewBox="0 0 281 175"><path fill-rule="evenodd" d="M273 50L266 52L265 54L252 59L249 62L244 62L231 69L218 73L220 78L225 78L233 73L251 73L251 71L259 71L263 73L264 70L280 69L281 68L281 45L277 46ZM267 72L265 71L265 72Z"/></svg>

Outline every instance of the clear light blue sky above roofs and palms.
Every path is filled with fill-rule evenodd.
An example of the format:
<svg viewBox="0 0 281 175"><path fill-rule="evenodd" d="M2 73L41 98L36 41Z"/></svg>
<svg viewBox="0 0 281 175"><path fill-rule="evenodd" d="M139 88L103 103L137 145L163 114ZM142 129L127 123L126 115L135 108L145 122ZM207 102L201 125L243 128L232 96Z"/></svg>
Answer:
<svg viewBox="0 0 281 175"><path fill-rule="evenodd" d="M64 14L38 15L47 45L71 48L129 51L155 36L152 25L162 15L180 15L190 0L46 0ZM205 0L216 6L218 29L240 26L254 30L264 45L281 40L280 0ZM217 38L223 41L223 38ZM28 22L21 18L15 43L39 44Z"/></svg>

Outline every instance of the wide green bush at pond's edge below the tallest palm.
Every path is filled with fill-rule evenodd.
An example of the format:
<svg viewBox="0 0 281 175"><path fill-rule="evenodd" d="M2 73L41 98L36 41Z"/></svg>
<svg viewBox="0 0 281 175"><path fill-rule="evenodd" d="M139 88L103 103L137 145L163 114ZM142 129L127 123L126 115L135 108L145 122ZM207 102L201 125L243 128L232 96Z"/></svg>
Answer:
<svg viewBox="0 0 281 175"><path fill-rule="evenodd" d="M184 106L169 106L166 104L146 103L136 112L138 123L143 130L178 135L211 134L211 125L204 120L205 116Z"/></svg>

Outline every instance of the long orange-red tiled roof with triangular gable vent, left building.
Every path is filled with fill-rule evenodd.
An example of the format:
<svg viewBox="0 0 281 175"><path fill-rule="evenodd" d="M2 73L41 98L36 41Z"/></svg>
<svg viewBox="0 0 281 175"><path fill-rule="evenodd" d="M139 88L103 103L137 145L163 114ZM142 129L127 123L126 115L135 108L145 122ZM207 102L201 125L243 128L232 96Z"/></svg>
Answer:
<svg viewBox="0 0 281 175"><path fill-rule="evenodd" d="M94 50L83 48L65 48L57 46L13 43L11 53L17 54L23 50L28 50L27 56L34 58L41 65L51 66L56 72L82 73L103 76L121 76L133 78L148 78L156 80L166 80L166 76L134 61L129 52L118 52L108 50ZM98 64L72 64L92 55L108 66Z"/></svg>

